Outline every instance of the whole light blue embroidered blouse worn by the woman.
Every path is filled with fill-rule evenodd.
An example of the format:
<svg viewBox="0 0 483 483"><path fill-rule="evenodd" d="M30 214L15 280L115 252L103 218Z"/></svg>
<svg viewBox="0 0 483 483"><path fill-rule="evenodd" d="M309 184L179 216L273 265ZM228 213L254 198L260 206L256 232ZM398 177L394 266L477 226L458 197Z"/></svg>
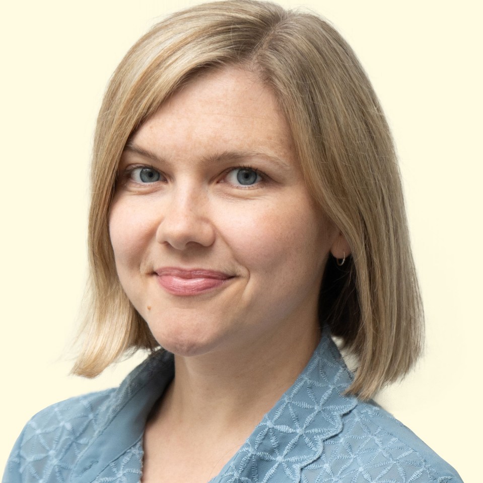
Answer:
<svg viewBox="0 0 483 483"><path fill-rule="evenodd" d="M146 419L174 374L158 352L117 389L34 416L4 483L135 483ZM341 395L352 380L327 333L294 385L211 483L461 483L457 472L375 403Z"/></svg>

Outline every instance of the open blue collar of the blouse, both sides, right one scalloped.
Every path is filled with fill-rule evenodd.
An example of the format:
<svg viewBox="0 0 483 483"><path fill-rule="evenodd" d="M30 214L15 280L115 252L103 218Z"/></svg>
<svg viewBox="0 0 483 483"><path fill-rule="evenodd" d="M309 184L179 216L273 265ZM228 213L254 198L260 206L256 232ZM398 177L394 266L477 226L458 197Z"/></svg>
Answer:
<svg viewBox="0 0 483 483"><path fill-rule="evenodd" d="M173 359L170 353L156 352L113 391L95 415L98 431L80 455L71 481L107 476L109 465L142 441L149 413L174 376ZM356 397L342 395L351 382L352 374L324 330L295 383L210 483L300 481L302 468L321 455L324 441L342 430L342 416L357 405Z"/></svg>

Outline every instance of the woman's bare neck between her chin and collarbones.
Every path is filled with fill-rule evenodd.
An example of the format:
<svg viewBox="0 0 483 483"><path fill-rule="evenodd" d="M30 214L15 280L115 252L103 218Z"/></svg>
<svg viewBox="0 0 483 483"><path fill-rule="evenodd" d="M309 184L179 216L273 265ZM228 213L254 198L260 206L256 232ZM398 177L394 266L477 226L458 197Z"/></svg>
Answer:
<svg viewBox="0 0 483 483"><path fill-rule="evenodd" d="M236 425L247 437L295 382L319 339L313 324L302 333L275 334L269 344L250 340L237 351L176 356L175 378L158 416L212 435L236 431Z"/></svg>

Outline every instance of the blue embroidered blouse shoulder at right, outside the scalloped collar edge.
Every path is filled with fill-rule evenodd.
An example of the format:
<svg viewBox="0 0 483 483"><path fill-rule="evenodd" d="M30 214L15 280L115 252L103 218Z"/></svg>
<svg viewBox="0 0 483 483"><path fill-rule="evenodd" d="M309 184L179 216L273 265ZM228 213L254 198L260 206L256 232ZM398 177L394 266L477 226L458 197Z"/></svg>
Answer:
<svg viewBox="0 0 483 483"><path fill-rule="evenodd" d="M321 458L311 466L336 481L462 483L451 465L372 402L359 401L344 415L342 430L325 441Z"/></svg>

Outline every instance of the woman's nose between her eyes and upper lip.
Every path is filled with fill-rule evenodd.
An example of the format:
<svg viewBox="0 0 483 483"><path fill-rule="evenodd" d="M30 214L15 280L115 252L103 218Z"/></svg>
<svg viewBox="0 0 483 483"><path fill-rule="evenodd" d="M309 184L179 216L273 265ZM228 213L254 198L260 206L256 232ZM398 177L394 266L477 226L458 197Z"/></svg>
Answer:
<svg viewBox="0 0 483 483"><path fill-rule="evenodd" d="M197 244L204 247L215 242L215 227L209 215L206 193L199 187L173 188L163 203L163 213L156 240L176 250Z"/></svg>

